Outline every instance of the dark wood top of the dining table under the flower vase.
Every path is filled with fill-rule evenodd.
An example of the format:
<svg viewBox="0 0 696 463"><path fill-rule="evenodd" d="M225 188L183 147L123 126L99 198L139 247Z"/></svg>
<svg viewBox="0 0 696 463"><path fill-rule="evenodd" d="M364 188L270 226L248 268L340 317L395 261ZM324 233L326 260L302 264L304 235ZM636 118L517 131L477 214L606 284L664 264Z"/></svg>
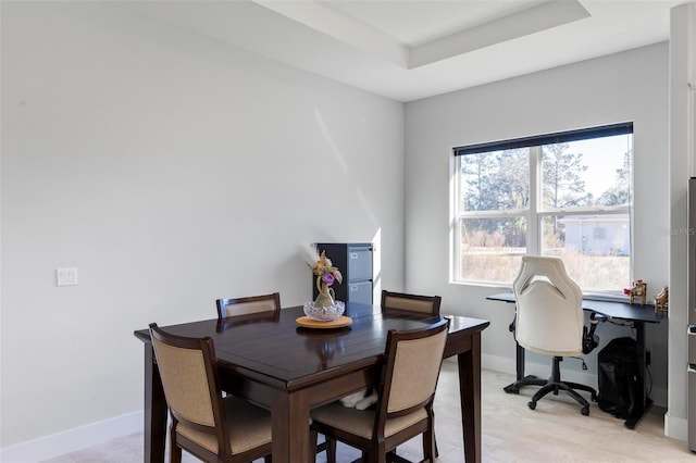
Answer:
<svg viewBox="0 0 696 463"><path fill-rule="evenodd" d="M350 326L313 329L297 325L296 320L302 315L302 308L295 306L279 313L212 318L163 328L181 336L210 336L221 366L270 387L291 390L331 377L339 367L345 372L347 367L358 370L382 363L389 329L415 329L438 320L437 315L382 312L378 305L348 303L345 315L352 318ZM457 333L488 326L487 321L444 316L451 320L450 342L456 342ZM234 329L243 325L244 329ZM147 329L135 335L142 341L150 340Z"/></svg>

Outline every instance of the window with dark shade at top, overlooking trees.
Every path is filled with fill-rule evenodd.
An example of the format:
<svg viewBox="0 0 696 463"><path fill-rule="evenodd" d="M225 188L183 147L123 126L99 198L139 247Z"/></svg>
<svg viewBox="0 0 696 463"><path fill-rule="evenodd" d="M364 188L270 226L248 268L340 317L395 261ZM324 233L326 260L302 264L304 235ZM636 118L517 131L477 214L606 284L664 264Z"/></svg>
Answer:
<svg viewBox="0 0 696 463"><path fill-rule="evenodd" d="M631 283L633 124L455 148L455 281L557 255L585 292Z"/></svg>

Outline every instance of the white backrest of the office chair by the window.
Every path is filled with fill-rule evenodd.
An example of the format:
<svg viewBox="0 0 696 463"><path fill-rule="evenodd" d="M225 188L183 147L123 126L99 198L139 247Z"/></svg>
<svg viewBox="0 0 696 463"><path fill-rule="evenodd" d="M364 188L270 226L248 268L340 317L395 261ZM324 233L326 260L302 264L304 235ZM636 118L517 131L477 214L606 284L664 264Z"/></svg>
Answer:
<svg viewBox="0 0 696 463"><path fill-rule="evenodd" d="M547 355L583 351L582 291L558 258L525 255L512 289L517 299L515 338Z"/></svg>

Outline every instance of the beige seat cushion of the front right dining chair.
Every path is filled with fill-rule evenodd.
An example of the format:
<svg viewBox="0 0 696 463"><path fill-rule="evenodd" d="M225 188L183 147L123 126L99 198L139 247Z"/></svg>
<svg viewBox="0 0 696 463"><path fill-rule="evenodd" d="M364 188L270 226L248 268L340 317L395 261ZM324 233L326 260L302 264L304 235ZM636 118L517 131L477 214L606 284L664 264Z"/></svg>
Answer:
<svg viewBox="0 0 696 463"><path fill-rule="evenodd" d="M333 402L312 410L311 415L313 420L337 429L349 431L365 439L372 437L375 415L373 410L347 409L340 402ZM408 415L387 420L384 428L385 437L391 436L425 418L427 418L425 409L420 409Z"/></svg>

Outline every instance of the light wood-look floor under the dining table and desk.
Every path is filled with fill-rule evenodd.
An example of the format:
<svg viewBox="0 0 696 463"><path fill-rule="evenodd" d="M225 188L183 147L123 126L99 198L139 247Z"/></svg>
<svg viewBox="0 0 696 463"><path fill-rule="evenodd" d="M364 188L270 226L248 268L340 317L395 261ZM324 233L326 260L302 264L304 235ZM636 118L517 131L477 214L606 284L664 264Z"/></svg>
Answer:
<svg viewBox="0 0 696 463"><path fill-rule="evenodd" d="M634 430L623 421L593 403L589 416L564 395L547 396L536 410L526 402L536 387L519 396L502 387L513 380L509 374L483 371L483 461L510 462L696 462L685 441L664 437L664 410L654 406ZM464 461L461 443L457 366L445 362L437 389L435 423L438 462ZM402 456L419 461L421 443L412 440L399 447ZM339 443L338 461L351 462L359 453ZM142 434L137 433L99 446L49 460L49 463L138 463L142 461ZM184 452L184 462L196 462ZM318 462L325 462L320 454Z"/></svg>

